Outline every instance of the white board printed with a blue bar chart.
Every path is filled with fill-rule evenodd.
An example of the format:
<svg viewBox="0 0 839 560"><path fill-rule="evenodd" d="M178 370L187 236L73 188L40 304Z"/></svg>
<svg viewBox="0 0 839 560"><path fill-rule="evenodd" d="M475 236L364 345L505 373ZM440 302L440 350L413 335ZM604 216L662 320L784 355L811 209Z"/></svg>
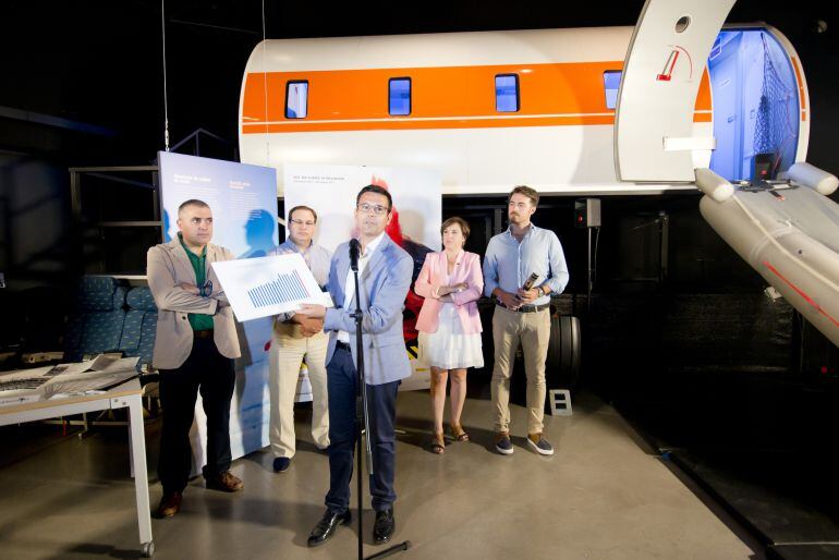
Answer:
<svg viewBox="0 0 839 560"><path fill-rule="evenodd" d="M332 299L299 253L212 263L236 320L293 312L303 303L332 306Z"/></svg>

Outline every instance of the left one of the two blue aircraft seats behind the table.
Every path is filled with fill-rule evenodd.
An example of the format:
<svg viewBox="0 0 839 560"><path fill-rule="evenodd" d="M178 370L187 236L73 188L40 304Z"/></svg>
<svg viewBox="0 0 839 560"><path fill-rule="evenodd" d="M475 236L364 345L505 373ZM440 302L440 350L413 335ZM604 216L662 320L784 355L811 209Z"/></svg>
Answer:
<svg viewBox="0 0 839 560"><path fill-rule="evenodd" d="M64 333L64 362L78 362L85 354L118 352L124 304L125 289L115 278L82 277Z"/></svg>

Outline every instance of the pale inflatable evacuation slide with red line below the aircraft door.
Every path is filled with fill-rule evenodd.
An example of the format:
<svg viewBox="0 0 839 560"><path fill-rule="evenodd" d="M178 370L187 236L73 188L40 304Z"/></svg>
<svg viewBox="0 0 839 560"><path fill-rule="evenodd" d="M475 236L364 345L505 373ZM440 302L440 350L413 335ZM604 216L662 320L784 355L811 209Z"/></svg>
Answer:
<svg viewBox="0 0 839 560"><path fill-rule="evenodd" d="M799 166L797 163L797 166ZM839 205L819 190L837 178L810 166L798 182L740 187L696 170L700 211L719 235L804 318L839 345ZM731 186L729 184L729 186Z"/></svg>

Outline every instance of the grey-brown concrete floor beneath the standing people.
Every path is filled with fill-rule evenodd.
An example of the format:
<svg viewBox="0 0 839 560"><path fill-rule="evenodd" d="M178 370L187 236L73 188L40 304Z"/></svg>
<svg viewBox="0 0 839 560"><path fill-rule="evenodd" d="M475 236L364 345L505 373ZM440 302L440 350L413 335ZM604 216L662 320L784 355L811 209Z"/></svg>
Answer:
<svg viewBox="0 0 839 560"><path fill-rule="evenodd" d="M469 400L469 443L428 452L428 394L400 393L394 539L405 559L738 559L759 547L702 492L649 452L608 405L591 395L572 417L546 417L552 458L528 451L525 411L513 406L515 453L491 449L490 403ZM297 455L275 474L266 451L234 462L244 492L205 490L193 480L182 512L154 520L155 558L354 558L355 526L317 549L306 537L324 511L328 464L299 414ZM157 423L147 426L154 477ZM0 558L137 558L134 486L124 431L57 438L56 427L3 431L0 459ZM46 434L45 434L46 433ZM9 440L12 440L11 442ZM11 445L10 445L11 443ZM352 488L355 488L353 482ZM151 486L153 509L160 486ZM369 497L365 497L369 508ZM353 503L355 498L353 497ZM353 512L354 513L354 512ZM365 553L373 514L364 516ZM742 537L742 538L741 538Z"/></svg>

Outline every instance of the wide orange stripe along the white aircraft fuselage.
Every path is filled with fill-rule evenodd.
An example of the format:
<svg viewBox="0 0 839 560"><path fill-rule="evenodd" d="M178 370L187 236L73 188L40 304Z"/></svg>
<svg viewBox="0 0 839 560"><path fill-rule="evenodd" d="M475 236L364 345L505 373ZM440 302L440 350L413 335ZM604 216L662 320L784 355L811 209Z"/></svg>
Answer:
<svg viewBox="0 0 839 560"><path fill-rule="evenodd" d="M251 73L245 78L242 132L613 124L615 111L606 107L603 74L622 66L623 62L613 61ZM497 74L519 76L518 112L496 112ZM391 117L388 81L406 76L411 77L411 114ZM287 119L285 84L297 80L308 81L308 115ZM706 112L694 114L694 122L712 121L707 72L695 109Z"/></svg>

